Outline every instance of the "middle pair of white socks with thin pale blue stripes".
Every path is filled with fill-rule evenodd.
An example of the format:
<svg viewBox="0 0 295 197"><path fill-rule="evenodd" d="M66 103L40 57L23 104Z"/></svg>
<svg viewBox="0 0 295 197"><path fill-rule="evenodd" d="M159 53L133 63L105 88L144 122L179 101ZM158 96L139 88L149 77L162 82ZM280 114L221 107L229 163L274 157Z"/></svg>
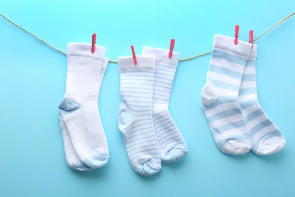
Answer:
<svg viewBox="0 0 295 197"><path fill-rule="evenodd" d="M179 54L144 47L142 56L119 57L120 93L118 128L132 168L142 176L161 170L187 154L186 143L168 105Z"/></svg>

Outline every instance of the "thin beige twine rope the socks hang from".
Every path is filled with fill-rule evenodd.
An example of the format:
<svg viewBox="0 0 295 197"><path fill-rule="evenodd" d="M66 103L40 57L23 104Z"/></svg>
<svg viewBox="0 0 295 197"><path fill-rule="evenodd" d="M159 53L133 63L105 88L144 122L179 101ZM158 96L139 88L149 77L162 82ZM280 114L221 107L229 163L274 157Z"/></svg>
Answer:
<svg viewBox="0 0 295 197"><path fill-rule="evenodd" d="M278 22L278 23L275 24L274 26L272 26L272 27L271 27L270 29L268 29L265 33L263 33L261 36L259 36L258 38L254 39L253 41L258 40L259 38L261 38L262 36L264 36L267 32L269 32L270 30L272 30L275 26L277 26L277 25L283 23L285 20L287 20L288 18L290 18L290 17L293 16L294 14L295 14L295 12L292 13L292 14L290 14L289 16L287 16L286 18L284 18L283 20L281 20L280 22ZM21 30L23 30L23 31L25 31L25 32L27 32L27 33L29 33L27 30L25 30L24 28L22 28L22 27L18 26L17 24L13 23L12 21L10 21L9 19L7 19L7 18L6 18L5 16L3 16L2 14L0 14L0 16L2 16L4 19L6 19L9 23L13 24L14 26L20 28ZM48 44L48 43L45 42L44 40L42 40L42 39L38 38L37 36L33 35L32 33L29 33L29 34L32 35L32 36L34 36L35 38L37 38L37 39L40 40L41 42L47 44L48 46L54 48L55 50L59 51L60 53L63 53L63 54L66 55L65 52L59 50L58 48L52 46L51 44ZM193 56L193 57L189 57L189 58L181 59L181 60L179 60L179 62L187 61L187 60L191 60L191 59L194 59L194 58L198 58L198 57L200 57L200 56L204 56L204 55L207 55L207 54L209 54L209 53L211 53L211 51L210 51L210 52L207 52L207 53L200 54L200 55L196 55L196 56ZM118 63L118 61L109 60L109 63Z"/></svg>

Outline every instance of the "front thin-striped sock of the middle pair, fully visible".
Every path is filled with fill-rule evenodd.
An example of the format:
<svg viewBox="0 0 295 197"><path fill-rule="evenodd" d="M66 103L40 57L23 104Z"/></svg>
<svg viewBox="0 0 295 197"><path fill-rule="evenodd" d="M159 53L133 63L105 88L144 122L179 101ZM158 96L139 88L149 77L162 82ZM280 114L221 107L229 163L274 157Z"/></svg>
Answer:
<svg viewBox="0 0 295 197"><path fill-rule="evenodd" d="M119 57L122 104L118 112L118 127L123 134L129 162L142 176L161 170L161 160L152 121L152 94L155 58Z"/></svg>

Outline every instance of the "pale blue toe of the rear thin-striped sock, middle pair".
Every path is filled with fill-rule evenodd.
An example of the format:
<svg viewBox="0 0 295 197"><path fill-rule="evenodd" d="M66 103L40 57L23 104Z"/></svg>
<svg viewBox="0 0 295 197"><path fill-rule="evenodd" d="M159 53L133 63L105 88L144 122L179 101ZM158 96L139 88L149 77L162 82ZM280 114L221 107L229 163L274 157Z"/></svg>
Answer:
<svg viewBox="0 0 295 197"><path fill-rule="evenodd" d="M161 154L161 162L163 164L176 162L181 158L184 158L187 153L188 150L186 149L186 147L177 145Z"/></svg>

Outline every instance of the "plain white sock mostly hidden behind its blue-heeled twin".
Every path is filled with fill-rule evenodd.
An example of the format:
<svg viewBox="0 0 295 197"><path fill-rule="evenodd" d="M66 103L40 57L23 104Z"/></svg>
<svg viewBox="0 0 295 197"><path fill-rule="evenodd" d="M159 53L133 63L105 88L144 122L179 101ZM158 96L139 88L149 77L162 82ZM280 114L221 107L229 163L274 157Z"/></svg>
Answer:
<svg viewBox="0 0 295 197"><path fill-rule="evenodd" d="M104 58L103 59L103 63L102 63L102 68L101 68L101 72L100 72L100 84L99 84L99 89L101 87L102 84L102 80L105 74L105 71L107 69L108 66L108 58ZM71 141L71 137L69 135L69 132L66 128L66 125L64 123L64 121L62 120L62 117L59 114L59 118L60 118L60 128L62 131L62 138L63 138L63 145L64 145L64 152L65 152L65 159L67 164L75 170L79 170L79 171L90 171L93 170L95 168L91 168L88 165L84 164L80 158L78 157L75 148L73 146L73 143ZM99 122L101 122L100 118L98 119Z"/></svg>

